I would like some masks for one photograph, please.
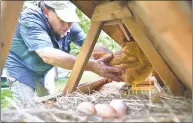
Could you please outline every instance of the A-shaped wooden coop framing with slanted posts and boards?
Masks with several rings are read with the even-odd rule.
[[[91,19],[63,94],[76,89],[88,92],[108,79],[79,85],[101,30],[121,47],[136,41],[155,70],[156,78],[177,96],[192,94],[191,1],[78,1],[72,0]],[[22,1],[1,2],[1,69],[5,62]],[[133,40],[134,39],[134,40]],[[154,83],[155,84],[155,83]],[[150,87],[151,88],[151,87]],[[42,101],[54,96],[42,98]]]

